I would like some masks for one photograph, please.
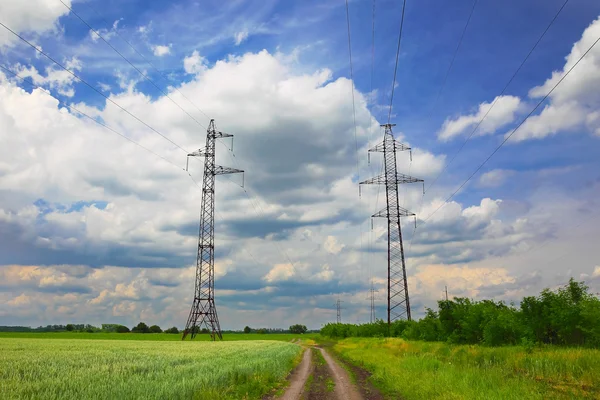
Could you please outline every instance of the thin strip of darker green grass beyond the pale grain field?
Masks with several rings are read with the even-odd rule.
[[[169,333],[87,333],[87,332],[0,332],[2,338],[31,338],[31,339],[99,339],[99,340],[156,340],[156,341],[181,341],[181,334]],[[224,333],[224,341],[237,340],[278,340],[289,342],[293,339],[311,340],[318,337],[318,333],[297,335],[292,333]],[[189,336],[188,336],[189,338]],[[189,339],[186,339],[189,340]],[[198,334],[194,341],[210,341],[210,335]]]

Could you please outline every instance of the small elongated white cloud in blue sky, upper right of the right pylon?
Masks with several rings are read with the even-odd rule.
[[[495,104],[494,104],[495,103]],[[490,111],[490,107],[493,108]],[[450,140],[461,134],[471,133],[479,121],[488,113],[487,117],[479,126],[476,135],[485,135],[496,132],[499,128],[513,122],[521,107],[521,100],[515,96],[499,96],[491,103],[481,103],[477,112],[461,115],[454,119],[446,119],[438,131],[438,139]]]

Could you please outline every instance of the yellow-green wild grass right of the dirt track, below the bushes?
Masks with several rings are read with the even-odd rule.
[[[600,351],[345,339],[334,351],[370,371],[384,393],[411,399],[600,398]]]

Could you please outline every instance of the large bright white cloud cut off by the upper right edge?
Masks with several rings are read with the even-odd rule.
[[[577,41],[561,71],[553,71],[543,85],[529,91],[533,99],[544,97],[577,60],[600,37],[600,17],[590,24]],[[512,141],[541,139],[559,132],[600,133],[600,46],[596,45],[569,73],[549,97],[538,115],[530,117],[511,137]],[[509,133],[507,133],[508,135]]]

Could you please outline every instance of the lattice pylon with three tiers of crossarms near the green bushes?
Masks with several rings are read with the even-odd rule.
[[[407,319],[409,321],[411,319],[400,218],[414,216],[415,214],[400,207],[398,202],[398,184],[423,182],[422,179],[401,174],[396,170],[396,152],[410,151],[411,149],[394,139],[392,127],[395,125],[396,124],[381,125],[385,128],[383,142],[369,149],[369,152],[383,153],[384,173],[375,178],[360,182],[361,185],[385,185],[387,206],[383,210],[373,214],[372,217],[387,218],[388,220],[388,326],[397,319]],[[423,187],[423,190],[425,190],[425,187]]]

